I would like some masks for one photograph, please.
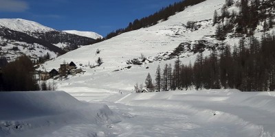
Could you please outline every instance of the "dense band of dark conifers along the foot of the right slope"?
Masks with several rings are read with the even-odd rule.
[[[173,64],[157,67],[155,82],[150,73],[145,80],[149,92],[188,90],[188,88],[236,88],[241,91],[275,90],[275,35],[267,34],[258,40],[250,36],[239,40],[239,45],[223,45],[220,53],[210,55],[200,52],[194,64],[182,64],[177,58]],[[233,49],[231,49],[233,47]],[[142,90],[135,85],[135,91]]]

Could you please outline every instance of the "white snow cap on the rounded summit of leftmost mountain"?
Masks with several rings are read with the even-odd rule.
[[[50,32],[56,31],[50,27],[45,27],[34,21],[28,21],[21,18],[0,18],[0,26],[8,27],[17,32],[24,32],[27,34],[34,32]]]

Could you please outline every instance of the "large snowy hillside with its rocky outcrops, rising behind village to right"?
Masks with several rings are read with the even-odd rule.
[[[234,1],[235,4],[227,8],[230,14],[233,11],[239,12],[239,2]],[[69,86],[63,84],[67,82],[59,82],[62,84],[58,88],[60,90],[69,91],[72,87],[83,87],[91,91],[102,88],[131,91],[135,83],[144,83],[148,73],[154,79],[158,65],[163,68],[166,63],[174,64],[177,55],[183,64],[193,64],[198,52],[203,52],[203,57],[210,55],[212,49],[217,49],[220,53],[226,44],[238,45],[243,37],[245,43],[248,43],[246,34],[235,32],[237,23],[232,25],[232,30],[225,35],[224,40],[217,40],[216,29],[219,25],[213,25],[212,18],[215,10],[221,13],[224,4],[223,0],[207,0],[189,6],[183,12],[170,16],[167,21],[81,47],[46,62],[41,67],[48,71],[58,69],[65,60],[74,61],[86,71],[80,77],[71,77]],[[226,21],[228,19],[225,18],[224,22]],[[195,27],[190,27],[190,24]],[[272,30],[274,27],[269,32]],[[263,22],[255,27],[254,36],[258,39],[263,36]],[[100,66],[96,64],[98,58],[103,60]]]

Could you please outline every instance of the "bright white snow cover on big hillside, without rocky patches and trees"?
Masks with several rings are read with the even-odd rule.
[[[86,73],[70,77],[67,82],[58,82],[58,89],[63,90],[67,89],[68,86],[80,86],[96,89],[104,87],[105,90],[127,90],[131,92],[136,82],[143,83],[148,73],[151,73],[152,76],[155,74],[158,64],[162,67],[166,63],[173,64],[174,60],[155,60],[153,63],[146,62],[146,64],[140,66],[126,64],[129,60],[141,58],[141,54],[150,60],[167,58],[168,55],[164,54],[172,53],[181,42],[195,43],[197,40],[204,39],[213,44],[219,42],[210,37],[214,34],[216,28],[212,26],[211,19],[214,10],[221,8],[224,2],[223,0],[208,0],[190,6],[183,12],[170,16],[168,21],[163,21],[152,27],[120,34],[109,40],[70,51],[41,65],[41,70],[42,68],[47,69],[47,71],[58,69],[64,60],[65,62],[73,61],[78,68],[81,67]],[[200,21],[201,28],[196,31],[186,28],[184,25],[188,21]],[[239,38],[228,38],[228,40],[237,42]],[[96,54],[98,49],[100,53]],[[209,53],[210,51],[206,51],[203,54],[208,55]],[[196,55],[194,53],[183,53],[180,55],[182,57],[181,62],[184,64],[192,63],[195,61]],[[103,64],[90,69],[88,65],[96,65],[95,61],[99,57],[102,58]],[[80,64],[83,64],[83,66],[80,66]],[[127,66],[131,66],[131,69],[125,69]],[[146,67],[149,69],[146,69]],[[152,78],[154,79],[154,77]],[[70,83],[70,85],[63,83]]]

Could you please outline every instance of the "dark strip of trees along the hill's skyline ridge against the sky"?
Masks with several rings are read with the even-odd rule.
[[[162,8],[158,12],[151,14],[150,16],[146,16],[144,18],[135,19],[135,21],[129,23],[129,25],[122,29],[117,29],[114,32],[107,34],[106,39],[113,38],[114,36],[118,36],[124,32],[130,32],[133,30],[140,29],[142,27],[150,27],[152,25],[156,25],[158,21],[166,21],[169,16],[176,14],[177,12],[182,12],[186,7],[190,5],[196,5],[206,0],[185,0],[180,1],[171,5],[168,5],[166,8]]]

